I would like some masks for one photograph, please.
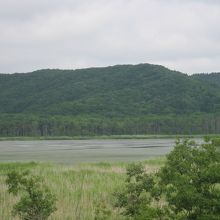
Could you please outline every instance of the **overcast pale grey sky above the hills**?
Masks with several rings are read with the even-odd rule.
[[[220,72],[219,0],[0,0],[0,72],[153,63]]]

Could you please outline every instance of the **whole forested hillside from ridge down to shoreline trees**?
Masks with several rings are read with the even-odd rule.
[[[0,135],[193,133],[195,118],[216,133],[219,75],[151,64],[0,74]],[[215,126],[203,122],[210,117]]]

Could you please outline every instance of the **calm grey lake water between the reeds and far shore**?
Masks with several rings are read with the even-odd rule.
[[[143,160],[169,153],[174,139],[1,141],[0,162],[79,163]]]

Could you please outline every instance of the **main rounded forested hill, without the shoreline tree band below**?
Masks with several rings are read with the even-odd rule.
[[[140,116],[220,111],[220,90],[197,78],[149,64],[1,75],[0,112]]]

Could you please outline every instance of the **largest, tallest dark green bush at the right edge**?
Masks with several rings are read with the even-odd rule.
[[[216,144],[216,139],[201,146],[178,141],[168,156],[160,172],[161,185],[176,214],[187,219],[220,217],[220,154]]]

